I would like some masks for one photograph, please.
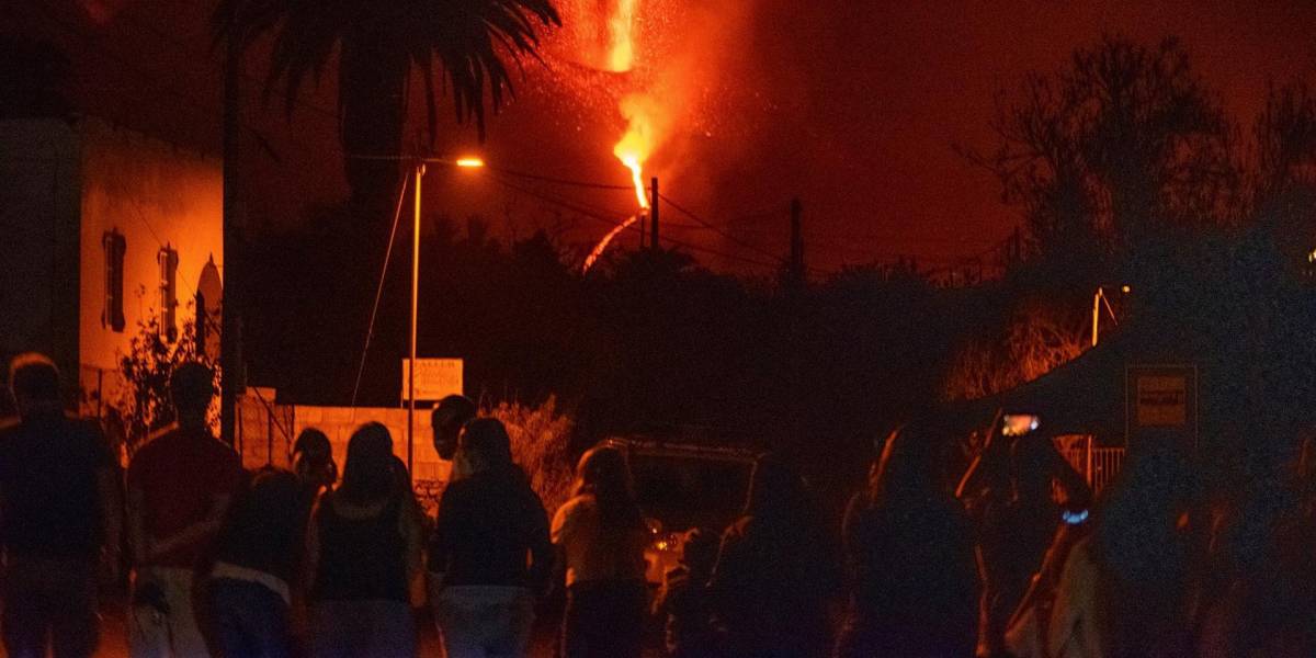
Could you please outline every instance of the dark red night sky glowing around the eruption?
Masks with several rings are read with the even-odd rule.
[[[71,57],[84,109],[179,143],[218,149],[218,58],[205,20],[209,0],[36,0],[7,4],[5,22],[54,39]],[[724,228],[728,241],[671,209],[670,236],[740,259],[700,253],[719,267],[763,271],[749,261],[783,254],[787,203],[805,207],[811,266],[913,254],[938,263],[1004,238],[1017,222],[994,179],[953,143],[990,147],[998,92],[1029,70],[1053,71],[1103,33],[1153,45],[1179,36],[1196,70],[1246,129],[1269,79],[1311,79],[1316,4],[1263,3],[855,3],[849,0],[640,0],[636,68],[603,72],[592,39],[609,0],[562,4],[566,28],[546,37],[546,67],[526,62],[517,100],[478,147],[503,168],[626,184],[612,157],[625,122],[617,100],[645,92],[663,114],[646,176]],[[292,124],[282,97],[255,88],[258,47],[247,61],[245,112],[249,212],[261,225],[295,225],[311,201],[345,196],[336,89],[326,71]],[[413,86],[420,118],[420,87]],[[440,153],[476,147],[441,101]],[[408,128],[408,142],[422,126]],[[278,159],[274,159],[274,155]],[[462,217],[480,213],[503,234],[553,229],[567,242],[608,230],[600,218],[555,217],[536,196],[563,195],[604,217],[633,209],[626,191],[592,191],[480,174],[440,172],[426,203]],[[509,222],[507,218],[513,217]],[[633,242],[633,240],[630,241]],[[749,245],[749,246],[746,246]]]

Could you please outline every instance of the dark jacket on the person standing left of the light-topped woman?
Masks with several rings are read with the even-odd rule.
[[[540,590],[549,580],[553,555],[544,503],[520,468],[478,472],[443,491],[429,570],[443,574],[445,587]]]

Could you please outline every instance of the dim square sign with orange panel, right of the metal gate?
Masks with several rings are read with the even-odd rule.
[[[1128,438],[1174,437],[1198,443],[1198,367],[1129,365],[1124,374]]]

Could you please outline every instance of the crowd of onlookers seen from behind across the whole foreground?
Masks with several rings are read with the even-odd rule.
[[[341,476],[315,429],[291,471],[245,471],[209,429],[199,363],[175,368],[176,424],[126,472],[95,422],[66,415],[50,359],[17,357],[9,384],[0,630],[16,658],[91,655],[97,586],[121,565],[133,657],[412,657],[425,600],[446,655],[521,657],[555,588],[566,658],[1316,651],[1312,450],[1212,496],[1173,443],[1133,445],[1096,499],[1041,437],[988,432],[955,478],[954,430],[929,415],[880,443],[840,533],[790,462],[762,458],[742,517],[686,533],[654,592],[624,453],[586,451],[550,515],[507,428],[466,397],[432,415],[453,470],[429,519],[376,422],[351,434]]]

